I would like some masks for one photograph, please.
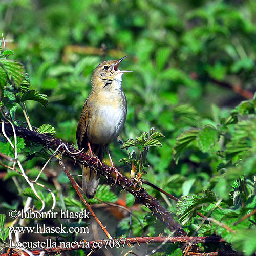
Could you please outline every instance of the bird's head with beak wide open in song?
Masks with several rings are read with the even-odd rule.
[[[92,86],[93,87],[106,87],[113,82],[121,86],[123,73],[132,72],[129,70],[119,70],[118,66],[123,59],[106,60],[101,62],[93,71]]]

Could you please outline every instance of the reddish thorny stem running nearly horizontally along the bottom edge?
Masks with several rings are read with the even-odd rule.
[[[113,243],[110,241],[113,241]],[[70,250],[77,250],[80,248],[85,248],[84,247],[84,243],[87,243],[87,249],[92,249],[92,250],[98,250],[99,246],[97,247],[97,245],[101,245],[102,248],[108,247],[108,245],[113,245],[114,243],[118,243],[120,245],[131,245],[131,244],[143,244],[143,243],[163,243],[164,241],[166,241],[167,243],[190,243],[191,245],[194,244],[199,244],[199,243],[217,243],[217,242],[224,242],[224,240],[219,237],[219,236],[211,236],[211,237],[137,237],[137,238],[119,238],[119,239],[104,239],[104,240],[97,240],[97,241],[90,241],[90,242],[86,242],[81,241],[77,242],[76,246],[72,246],[72,248],[63,248],[60,246],[57,246],[55,248],[45,248],[44,250],[34,250],[31,251],[31,253],[33,253],[33,255],[40,255],[41,251],[46,251],[48,255],[50,254],[60,254],[63,251],[70,251]],[[47,241],[46,241],[47,243]],[[50,242],[49,242],[50,244]],[[26,252],[23,252],[25,256],[29,256]],[[188,252],[189,254],[189,252]],[[195,254],[197,255],[197,254]],[[200,253],[198,253],[198,255],[201,255]],[[203,254],[204,255],[204,254]],[[221,254],[215,254],[215,255],[221,255]],[[223,254],[224,255],[224,254]],[[227,255],[227,254],[226,254]],[[235,255],[235,254],[233,254]],[[0,256],[8,256],[7,253],[3,253],[0,254]],[[11,256],[19,256],[18,253],[13,253],[11,254]]]

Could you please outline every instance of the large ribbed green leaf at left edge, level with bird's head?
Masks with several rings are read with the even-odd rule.
[[[0,66],[6,71],[9,79],[13,80],[16,86],[19,86],[25,74],[23,65],[15,60],[0,59]]]

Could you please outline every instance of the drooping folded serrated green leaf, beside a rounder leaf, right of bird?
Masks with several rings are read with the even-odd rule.
[[[173,148],[173,157],[176,164],[179,161],[182,151],[188,146],[193,140],[197,138],[200,129],[193,128],[179,135],[176,139],[175,146]]]

